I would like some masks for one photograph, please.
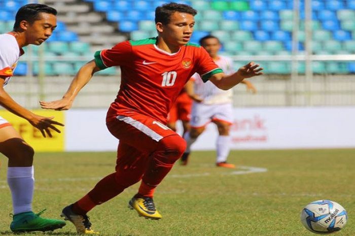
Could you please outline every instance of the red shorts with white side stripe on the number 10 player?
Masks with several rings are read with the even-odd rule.
[[[149,155],[157,149],[161,139],[176,135],[159,121],[137,113],[118,115],[107,120],[109,131],[120,140],[116,170],[146,166]]]

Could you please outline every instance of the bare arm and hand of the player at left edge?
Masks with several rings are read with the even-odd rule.
[[[43,137],[52,137],[51,129],[60,133],[60,130],[56,128],[54,125],[64,126],[62,123],[54,121],[54,117],[44,117],[39,116],[31,111],[28,111],[24,107],[20,106],[15,102],[14,99],[4,90],[5,78],[0,77],[0,105],[6,108],[9,112],[26,119],[31,125],[38,128]]]

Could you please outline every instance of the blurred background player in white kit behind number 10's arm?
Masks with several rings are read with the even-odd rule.
[[[218,55],[221,44],[217,37],[203,37],[200,39],[200,45],[206,49],[216,64],[220,66],[227,75],[233,73],[232,59]],[[181,158],[181,163],[183,165],[187,164],[191,145],[204,131],[205,126],[209,122],[214,122],[219,131],[219,136],[217,138],[216,165],[220,167],[235,168],[234,164],[227,163],[227,157],[230,151],[229,129],[233,123],[233,92],[231,89],[219,89],[209,81],[203,83],[198,74],[193,75],[192,79],[193,82],[190,81],[186,87],[187,93],[194,99],[191,111],[191,129],[184,135],[184,139],[187,142],[187,148]],[[246,85],[247,90],[256,92],[256,89],[251,82],[243,80],[241,83]]]

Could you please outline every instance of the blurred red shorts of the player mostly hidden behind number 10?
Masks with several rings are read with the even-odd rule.
[[[175,123],[177,120],[190,121],[192,99],[186,92],[181,93],[171,107],[168,114],[168,123]]]

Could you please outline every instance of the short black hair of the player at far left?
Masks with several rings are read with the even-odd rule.
[[[57,15],[57,10],[44,4],[27,4],[22,6],[16,13],[14,30],[19,29],[20,22],[23,20],[30,24],[39,20],[40,13],[42,12]]]

